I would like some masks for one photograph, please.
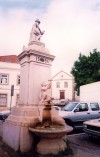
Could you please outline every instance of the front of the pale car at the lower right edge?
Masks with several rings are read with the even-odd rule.
[[[89,136],[100,138],[100,118],[86,121],[83,124],[85,133]]]

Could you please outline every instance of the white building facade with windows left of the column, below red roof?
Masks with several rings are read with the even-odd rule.
[[[0,107],[15,106],[19,100],[20,65],[0,62]],[[11,86],[14,85],[14,96],[11,100]]]

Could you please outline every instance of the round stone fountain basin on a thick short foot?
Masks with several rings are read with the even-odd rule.
[[[72,130],[73,128],[71,126],[63,126],[59,124],[54,124],[53,126],[49,127],[44,127],[42,125],[29,127],[30,132],[40,137],[36,150],[41,155],[56,155],[61,151],[65,151],[67,144],[63,137]]]

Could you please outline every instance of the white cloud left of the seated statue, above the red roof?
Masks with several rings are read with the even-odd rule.
[[[0,17],[0,52],[19,54],[23,45],[28,44],[33,21],[40,15],[37,11],[27,12],[24,9],[12,9],[6,15],[0,14],[3,15]]]

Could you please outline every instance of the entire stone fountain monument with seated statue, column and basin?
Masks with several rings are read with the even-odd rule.
[[[24,46],[22,53],[18,55],[20,102],[18,106],[12,108],[10,116],[3,124],[4,143],[22,153],[32,149],[36,135],[41,139],[37,145],[40,154],[43,154],[43,143],[46,145],[46,150],[50,149],[47,151],[49,153],[53,151],[53,147],[57,147],[54,153],[58,151],[56,145],[63,150],[66,146],[62,137],[72,129],[66,126],[64,120],[55,116],[56,111],[51,110],[52,103],[49,96],[51,85],[50,82],[47,84],[45,82],[51,78],[51,63],[55,57],[40,41],[44,31],[41,31],[39,24],[40,20],[37,19],[32,27],[28,46]],[[50,145],[48,148],[47,143]]]

